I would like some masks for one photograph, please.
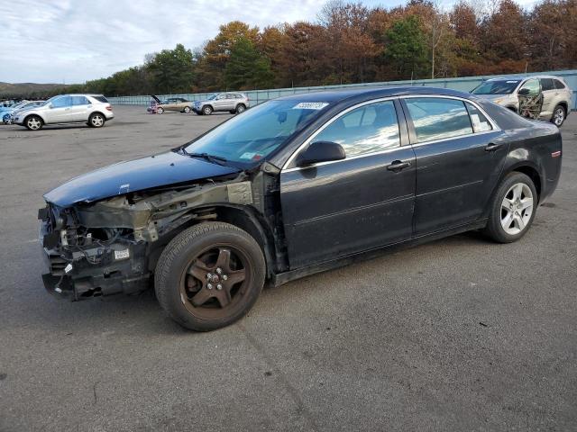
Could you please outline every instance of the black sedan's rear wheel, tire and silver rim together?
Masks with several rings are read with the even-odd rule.
[[[523,173],[509,173],[490,202],[485,234],[498,243],[522,238],[535,219],[537,201],[533,180]]]

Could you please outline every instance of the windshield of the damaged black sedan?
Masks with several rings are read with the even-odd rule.
[[[279,148],[328,103],[295,100],[261,103],[191,141],[187,153],[224,157],[231,165],[252,166]]]

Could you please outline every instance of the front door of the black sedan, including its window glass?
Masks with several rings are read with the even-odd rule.
[[[307,141],[339,143],[345,159],[298,167],[291,157],[280,175],[291,269],[411,237],[415,154],[399,127],[392,100],[364,103]]]

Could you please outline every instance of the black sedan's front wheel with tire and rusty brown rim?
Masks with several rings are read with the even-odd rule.
[[[261,294],[266,265],[246,231],[205,222],[162,251],[154,275],[160,306],[181,326],[209,331],[240,320]]]

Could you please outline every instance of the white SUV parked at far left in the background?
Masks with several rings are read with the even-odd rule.
[[[102,94],[60,94],[41,106],[16,112],[12,122],[29,130],[40,130],[45,124],[79,122],[101,128],[113,118],[112,106]]]

